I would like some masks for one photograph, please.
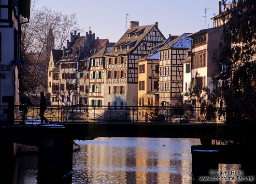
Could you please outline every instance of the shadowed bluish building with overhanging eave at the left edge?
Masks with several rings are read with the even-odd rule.
[[[0,1],[0,122],[14,123],[19,105],[20,15],[29,20],[30,1]],[[24,62],[23,62],[24,64]],[[7,87],[8,86],[8,87]]]

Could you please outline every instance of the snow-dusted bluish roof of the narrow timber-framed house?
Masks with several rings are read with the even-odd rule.
[[[176,37],[170,43],[166,44],[165,46],[161,47],[158,50],[173,49],[173,48],[190,48],[192,39],[187,37],[190,34],[191,33],[184,33],[181,36]]]

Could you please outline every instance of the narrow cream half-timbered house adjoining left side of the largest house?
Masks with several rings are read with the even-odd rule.
[[[108,39],[92,40],[84,58],[84,64],[78,69],[77,97],[80,105],[102,105],[104,97],[105,58],[103,54],[109,51]],[[89,99],[89,97],[91,98]],[[93,100],[93,101],[92,101]],[[91,103],[93,102],[93,103]]]

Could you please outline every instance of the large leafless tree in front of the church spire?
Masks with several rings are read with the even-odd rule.
[[[47,67],[53,48],[61,49],[71,31],[78,28],[76,15],[62,14],[47,7],[35,9],[31,3],[30,20],[21,27],[21,92],[47,87]]]

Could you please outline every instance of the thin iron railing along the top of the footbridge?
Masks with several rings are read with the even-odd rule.
[[[40,124],[39,108],[14,106],[14,122]],[[0,107],[1,120],[8,111]],[[225,108],[189,106],[47,106],[44,116],[51,123],[226,123]]]

